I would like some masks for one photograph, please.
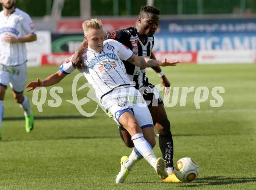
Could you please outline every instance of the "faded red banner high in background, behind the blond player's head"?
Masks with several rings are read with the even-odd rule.
[[[56,30],[58,33],[83,33],[84,20],[59,20]],[[104,30],[113,31],[134,26],[136,19],[102,19]]]

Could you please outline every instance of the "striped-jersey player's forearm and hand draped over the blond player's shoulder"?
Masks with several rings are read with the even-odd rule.
[[[76,49],[76,51],[74,52],[74,55],[72,56],[72,64],[74,68],[77,69],[81,69],[81,67],[83,66],[83,52],[84,49],[87,48],[87,42],[86,40],[84,40],[83,42],[81,42],[81,44],[79,45],[79,47]]]

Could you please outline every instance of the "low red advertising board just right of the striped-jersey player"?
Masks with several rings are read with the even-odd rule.
[[[181,63],[196,63],[197,52],[154,52],[155,57],[158,60],[169,61],[179,60]]]

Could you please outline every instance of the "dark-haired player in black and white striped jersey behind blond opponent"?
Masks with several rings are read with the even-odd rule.
[[[140,13],[136,22],[135,27],[129,27],[118,31],[108,32],[105,34],[106,38],[117,40],[120,43],[126,45],[134,54],[143,58],[155,59],[154,53],[152,53],[152,47],[154,46],[154,33],[157,31],[159,23],[160,11],[152,6],[143,6],[140,9]],[[81,50],[86,46],[84,41],[77,49],[75,56],[73,56],[73,63],[79,67]],[[127,63],[124,60],[124,63]],[[166,170],[168,171],[169,177],[163,180],[164,182],[180,182],[175,173],[173,172],[173,140],[172,133],[170,131],[170,121],[168,120],[165,108],[163,106],[163,100],[158,90],[154,85],[148,82],[148,78],[145,73],[145,67],[139,67],[134,64],[125,64],[127,74],[131,81],[136,84],[136,89],[139,89],[145,101],[147,102],[148,108],[154,126],[158,130],[159,134],[159,146],[162,152],[162,157],[166,162]],[[161,82],[165,87],[165,93],[168,92],[170,83],[166,78],[165,74],[160,67],[152,67],[161,78]],[[129,132],[122,126],[119,126],[120,135],[125,142],[126,146],[133,147],[133,142]],[[128,162],[127,167],[129,170],[134,163],[137,162],[140,155],[136,155],[134,152],[133,157],[123,157],[124,162]],[[129,161],[132,160],[131,162]]]

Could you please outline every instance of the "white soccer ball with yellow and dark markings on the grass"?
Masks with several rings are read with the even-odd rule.
[[[193,181],[199,174],[199,166],[190,157],[183,157],[175,164],[176,177],[183,182]]]

